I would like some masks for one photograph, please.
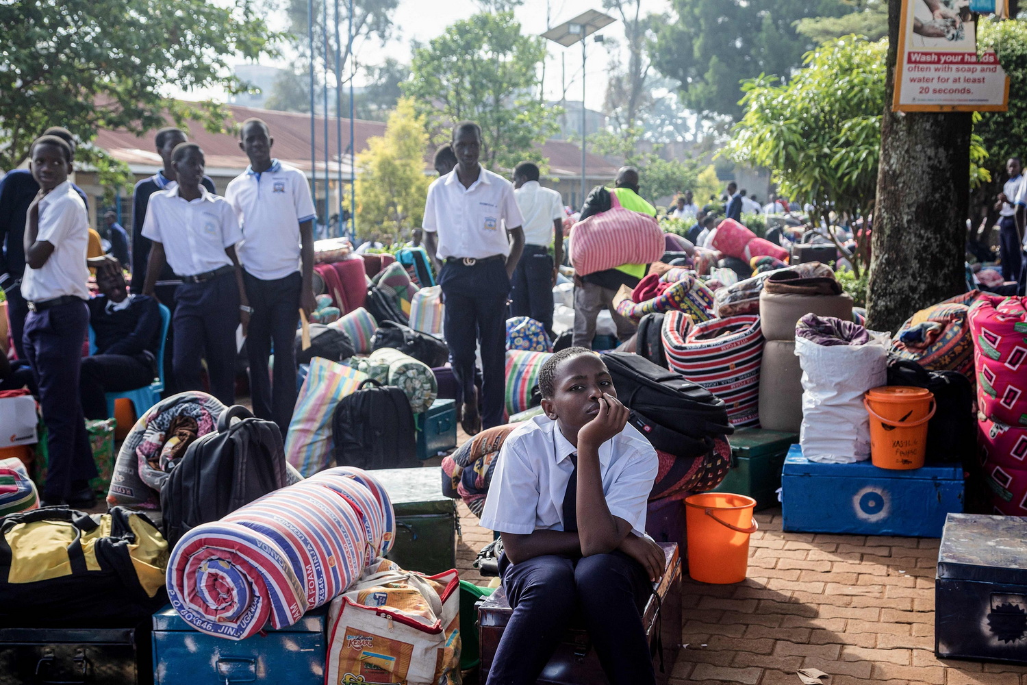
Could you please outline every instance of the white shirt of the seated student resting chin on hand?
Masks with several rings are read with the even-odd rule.
[[[576,448],[556,421],[536,416],[514,429],[489,486],[482,526],[501,533],[563,530],[564,495]],[[599,448],[603,494],[610,513],[645,535],[646,501],[656,479],[656,451],[631,425]]]

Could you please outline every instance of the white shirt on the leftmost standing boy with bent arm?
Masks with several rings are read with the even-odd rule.
[[[89,269],[85,256],[89,245],[89,220],[85,203],[65,181],[39,200],[39,233],[36,240],[53,245],[49,259],[38,269],[26,266],[22,297],[44,302],[74,295],[89,299]]]

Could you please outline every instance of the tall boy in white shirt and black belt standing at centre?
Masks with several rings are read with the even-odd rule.
[[[428,254],[444,262],[439,275],[446,302],[443,331],[453,376],[463,391],[461,424],[468,435],[503,422],[506,300],[524,249],[514,186],[478,163],[481,150],[481,126],[461,121],[453,128],[457,165],[428,187],[422,222]],[[479,341],[481,416],[474,391]]]

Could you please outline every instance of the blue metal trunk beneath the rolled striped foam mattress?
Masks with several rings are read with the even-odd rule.
[[[152,682],[322,685],[327,617],[325,605],[289,627],[233,641],[193,630],[168,604],[153,614]]]

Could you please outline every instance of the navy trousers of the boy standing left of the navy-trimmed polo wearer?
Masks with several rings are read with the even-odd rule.
[[[206,359],[211,394],[235,404],[235,329],[239,326],[239,289],[234,273],[201,283],[182,283],[176,292],[175,377],[179,391],[202,390],[200,358]]]

